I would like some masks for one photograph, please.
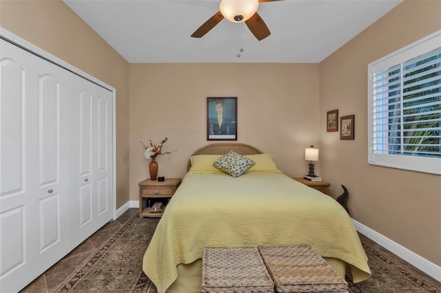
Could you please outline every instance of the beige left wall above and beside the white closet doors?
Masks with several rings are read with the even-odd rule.
[[[129,199],[129,64],[60,0],[0,1],[0,26],[116,89],[116,207]]]

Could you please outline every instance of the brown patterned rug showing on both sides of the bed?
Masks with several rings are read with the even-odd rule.
[[[156,293],[156,287],[143,273],[142,259],[157,224],[158,219],[140,219],[134,215],[54,292]],[[349,292],[441,293],[439,283],[422,279],[365,242],[369,241],[362,244],[369,258],[372,276],[356,284],[347,276]]]

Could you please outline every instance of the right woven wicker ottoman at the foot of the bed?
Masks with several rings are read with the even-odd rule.
[[[347,282],[311,246],[259,246],[276,292],[349,292]]]

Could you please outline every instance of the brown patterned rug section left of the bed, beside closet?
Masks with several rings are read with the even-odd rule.
[[[142,270],[142,260],[157,224],[157,218],[134,215],[54,292],[156,293]]]

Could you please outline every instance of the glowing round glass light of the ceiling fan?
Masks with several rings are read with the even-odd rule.
[[[258,7],[258,0],[222,0],[219,4],[223,17],[234,23],[247,21],[256,13]]]

